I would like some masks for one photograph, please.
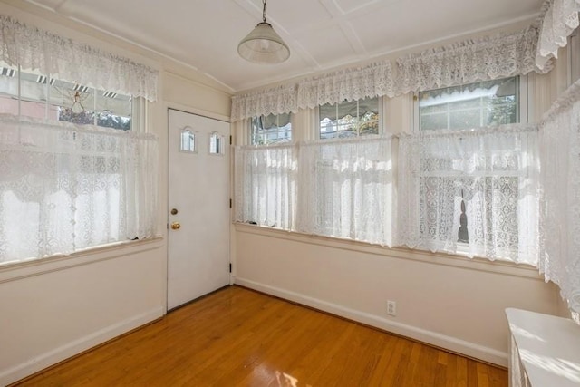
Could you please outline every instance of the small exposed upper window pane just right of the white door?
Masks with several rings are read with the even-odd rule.
[[[252,119],[252,145],[268,145],[292,140],[292,114],[261,115]]]

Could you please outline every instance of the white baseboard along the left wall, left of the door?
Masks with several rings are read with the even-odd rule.
[[[163,314],[165,314],[165,307],[157,307],[144,314],[132,316],[131,318],[107,326],[93,334],[88,334],[78,340],[66,343],[47,353],[41,353],[24,363],[17,364],[5,370],[0,370],[0,386],[17,382],[35,372],[42,371],[53,364],[73,357],[75,354],[82,353],[96,345],[105,343],[121,334],[125,334],[138,328],[141,325],[150,323],[151,321],[162,317]]]

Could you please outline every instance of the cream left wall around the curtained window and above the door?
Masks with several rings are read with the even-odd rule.
[[[159,136],[160,237],[0,266],[0,385],[5,385],[166,313],[167,108],[227,118],[230,95],[190,68],[21,0],[0,1],[0,14],[160,69],[160,98],[149,103],[148,120],[148,130]]]

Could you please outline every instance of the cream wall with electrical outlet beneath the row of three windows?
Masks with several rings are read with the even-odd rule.
[[[528,266],[236,230],[236,284],[490,363],[507,366],[507,307],[557,313],[555,286]]]

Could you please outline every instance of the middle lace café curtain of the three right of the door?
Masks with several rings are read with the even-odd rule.
[[[300,147],[297,229],[391,246],[391,138]]]

